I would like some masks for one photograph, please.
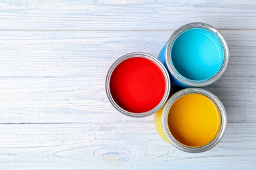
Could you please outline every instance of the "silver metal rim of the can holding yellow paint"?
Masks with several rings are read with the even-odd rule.
[[[188,93],[200,93],[200,94],[206,95],[213,102],[215,102],[215,104],[217,105],[217,107],[219,108],[219,111],[221,113],[221,128],[219,130],[218,135],[215,137],[215,139],[213,139],[213,141],[211,141],[208,144],[205,144],[204,146],[200,146],[200,147],[185,146],[185,145],[179,143],[179,141],[177,141],[175,139],[175,137],[173,137],[173,135],[171,135],[171,132],[169,131],[169,127],[167,124],[169,109],[171,108],[171,105],[173,105],[173,103],[177,99],[179,99],[179,97],[181,97],[182,95],[186,95]],[[216,95],[214,95],[213,93],[211,93],[207,90],[204,90],[202,88],[185,88],[185,89],[175,93],[174,95],[172,95],[170,97],[170,99],[167,101],[167,103],[163,109],[163,116],[162,116],[161,122],[162,122],[162,126],[163,126],[163,131],[170,143],[172,143],[175,147],[177,147],[180,150],[183,150],[185,152],[199,153],[199,152],[204,152],[206,150],[209,150],[210,148],[213,148],[213,146],[215,146],[217,143],[219,143],[219,141],[221,141],[221,139],[223,138],[224,132],[226,130],[227,117],[226,117],[226,110],[224,109],[223,103],[221,103],[221,101],[218,99],[218,97]]]

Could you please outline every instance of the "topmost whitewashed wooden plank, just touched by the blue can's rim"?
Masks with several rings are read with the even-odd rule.
[[[0,29],[170,30],[190,22],[255,29],[255,11],[253,0],[2,1]]]

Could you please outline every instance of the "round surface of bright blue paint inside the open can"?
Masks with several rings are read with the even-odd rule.
[[[186,80],[202,82],[216,75],[224,61],[224,49],[215,33],[203,28],[182,32],[171,46],[171,63]]]

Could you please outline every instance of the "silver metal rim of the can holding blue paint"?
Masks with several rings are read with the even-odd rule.
[[[219,70],[219,72],[216,75],[214,75],[213,77],[211,77],[207,80],[204,80],[204,81],[194,81],[194,80],[189,80],[189,79],[183,78],[182,76],[180,76],[177,73],[177,71],[171,64],[170,51],[171,51],[171,46],[172,46],[173,42],[183,31],[186,31],[186,30],[192,29],[192,28],[203,28],[203,29],[207,29],[207,30],[211,31],[212,33],[215,33],[219,37],[219,39],[221,39],[221,43],[223,44],[224,61],[223,61],[223,65],[222,65],[221,69]],[[169,38],[169,40],[167,41],[166,48],[165,48],[165,61],[167,63],[167,67],[168,67],[169,71],[171,72],[171,75],[173,75],[177,80],[179,80],[179,82],[182,82],[182,84],[186,84],[187,86],[190,86],[190,87],[207,86],[207,85],[212,84],[213,82],[217,81],[219,78],[221,78],[221,76],[226,71],[226,69],[228,67],[229,59],[230,59],[230,52],[229,52],[229,48],[228,48],[228,42],[224,38],[224,35],[221,33],[221,31],[219,31],[217,28],[213,27],[212,25],[205,24],[202,22],[192,22],[190,24],[186,24],[186,25],[183,25],[182,27],[179,27],[179,29],[177,29]]]

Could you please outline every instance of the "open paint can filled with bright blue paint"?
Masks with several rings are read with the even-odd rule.
[[[167,67],[171,87],[202,87],[217,81],[228,67],[228,43],[215,27],[204,23],[177,29],[158,59]]]

